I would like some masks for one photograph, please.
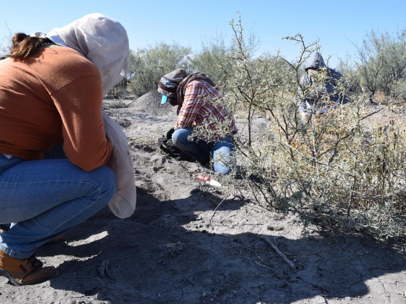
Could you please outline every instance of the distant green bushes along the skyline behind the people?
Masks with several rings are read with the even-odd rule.
[[[301,45],[302,48],[306,46],[300,34],[295,37],[286,37],[286,39],[292,41],[292,46],[294,43]],[[248,56],[247,59],[257,64],[265,60],[282,61],[283,59],[283,54],[263,54],[255,57],[257,41],[252,34],[248,39],[244,37],[240,43],[244,43],[240,47],[245,56]],[[293,63],[299,65],[300,72],[302,71],[300,64],[311,51],[318,48],[318,42],[311,42],[310,46],[313,48],[307,48],[303,54],[298,53],[298,61]],[[191,53],[189,48],[176,43],[172,45],[158,43],[149,48],[132,50],[130,71],[126,77],[128,89],[137,95],[155,91],[160,77],[177,67],[185,68],[189,72],[202,71],[209,74],[217,83],[225,83],[235,59],[238,58],[232,57],[231,54],[242,55],[238,47],[239,42],[235,39],[230,45],[226,45],[222,37],[214,37],[211,42],[203,43],[197,53]],[[374,102],[378,96],[378,99],[384,98],[378,101],[404,100],[406,98],[406,29],[394,34],[371,30],[364,37],[362,44],[356,48],[357,53],[353,54],[354,60],[341,58],[336,66],[346,75],[350,91],[355,94],[366,93],[371,102]]]

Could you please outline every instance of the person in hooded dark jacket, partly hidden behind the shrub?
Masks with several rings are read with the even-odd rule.
[[[323,113],[347,103],[344,94],[343,74],[327,67],[319,52],[313,53],[304,67],[298,87],[298,109],[300,116],[306,118],[310,113]]]

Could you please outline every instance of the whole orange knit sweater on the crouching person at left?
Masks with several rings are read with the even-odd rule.
[[[0,153],[39,160],[63,143],[67,158],[90,171],[111,154],[96,67],[73,49],[50,46],[23,60],[0,61]]]

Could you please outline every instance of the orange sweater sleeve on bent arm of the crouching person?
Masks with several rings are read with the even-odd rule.
[[[51,94],[62,119],[63,150],[66,157],[85,171],[109,160],[111,145],[101,118],[101,79],[86,75]]]

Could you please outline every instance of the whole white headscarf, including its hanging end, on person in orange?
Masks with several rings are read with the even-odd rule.
[[[107,16],[97,13],[86,15],[71,24],[52,29],[46,36],[89,59],[101,74],[105,94],[128,72],[127,32],[119,22]],[[102,117],[106,137],[113,148],[109,163],[116,174],[116,195],[109,202],[109,207],[116,216],[125,218],[132,215],[137,202],[132,157],[121,127],[105,111],[102,111]]]

